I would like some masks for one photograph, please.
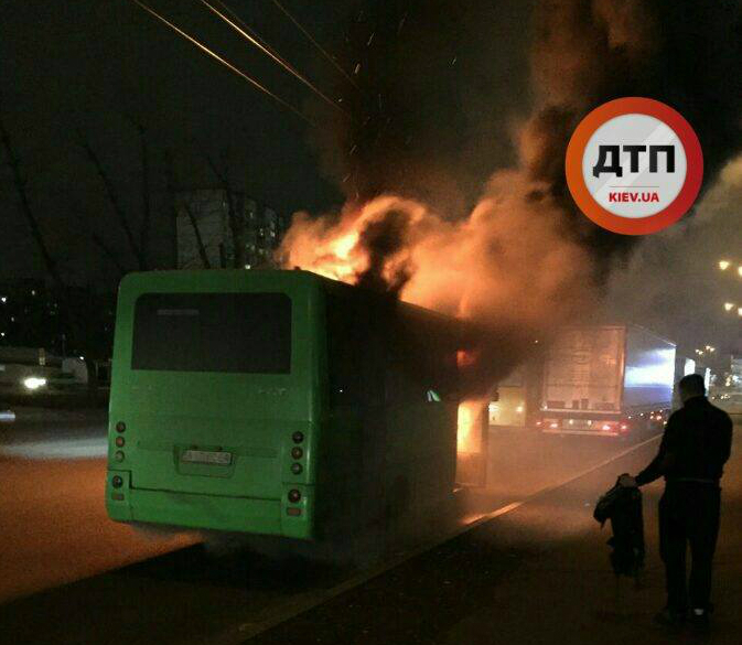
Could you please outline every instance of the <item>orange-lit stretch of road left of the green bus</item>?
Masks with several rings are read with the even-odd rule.
[[[105,411],[15,409],[0,423],[0,602],[193,544],[109,522]]]

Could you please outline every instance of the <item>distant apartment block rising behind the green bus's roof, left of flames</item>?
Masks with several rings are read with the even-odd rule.
[[[221,189],[181,191],[176,196],[176,257],[181,269],[233,267],[235,236],[229,222],[229,197],[241,227],[246,268],[271,266],[289,227],[289,218],[244,193]]]

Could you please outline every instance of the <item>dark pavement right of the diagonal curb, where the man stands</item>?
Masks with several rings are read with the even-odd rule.
[[[561,486],[537,494],[416,555],[364,584],[343,590],[246,643],[386,645],[627,643],[735,645],[742,633],[742,448],[735,431],[722,492],[711,630],[670,631],[653,621],[664,606],[657,553],[663,483],[644,488],[647,563],[641,583],[613,577],[592,502],[617,471],[635,473],[657,442],[639,445]],[[557,454],[555,452],[555,454]]]

